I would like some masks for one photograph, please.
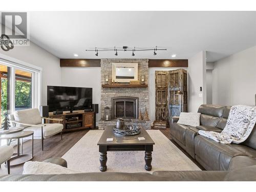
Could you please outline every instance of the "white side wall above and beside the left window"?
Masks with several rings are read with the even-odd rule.
[[[9,51],[0,49],[0,53],[42,68],[41,104],[46,105],[47,86],[60,86],[59,58],[33,44],[33,42],[30,42],[30,46],[14,47]]]

